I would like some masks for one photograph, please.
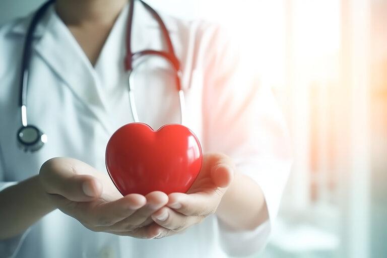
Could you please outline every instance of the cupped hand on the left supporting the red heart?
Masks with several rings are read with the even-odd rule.
[[[122,197],[106,173],[71,158],[46,161],[40,168],[39,180],[54,208],[90,230],[137,238],[159,234],[157,228],[146,225],[153,223],[150,216],[167,204],[168,197],[163,192]]]

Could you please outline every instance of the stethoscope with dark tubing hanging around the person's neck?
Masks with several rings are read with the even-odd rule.
[[[132,113],[133,119],[135,122],[139,122],[139,116],[137,113],[135,96],[133,92],[134,78],[135,78],[135,71],[136,71],[132,66],[133,61],[145,55],[156,55],[167,60],[170,63],[173,70],[175,71],[175,80],[177,85],[177,91],[179,93],[180,121],[181,123],[183,123],[185,104],[184,104],[184,92],[181,87],[180,62],[175,55],[171,38],[169,37],[167,28],[165,27],[165,24],[162,21],[159,14],[152,7],[150,7],[142,0],[139,0],[139,1],[157,20],[161,28],[161,31],[163,33],[163,37],[166,40],[168,51],[157,51],[157,50],[146,49],[135,53],[132,52],[131,37],[132,37],[132,23],[133,23],[135,1],[134,0],[130,1],[129,17],[127,20],[126,56],[124,59],[124,67],[125,67],[125,71],[129,73],[128,93],[129,93],[129,100],[130,100],[131,113]],[[20,82],[20,100],[19,100],[23,125],[18,130],[17,140],[19,143],[19,147],[26,152],[37,151],[40,148],[42,148],[43,145],[47,142],[47,135],[45,135],[37,126],[27,123],[27,86],[28,86],[28,77],[29,77],[29,64],[31,60],[32,36],[37,23],[39,22],[39,20],[47,10],[47,8],[54,2],[55,0],[48,1],[42,7],[40,7],[39,10],[36,12],[28,28],[25,43],[24,43],[22,69],[21,69],[21,82]]]

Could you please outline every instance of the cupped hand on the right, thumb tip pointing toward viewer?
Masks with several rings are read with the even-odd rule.
[[[202,169],[188,192],[171,193],[168,204],[152,214],[157,225],[148,227],[159,232],[156,238],[162,238],[200,223],[215,213],[233,176],[230,158],[216,153],[204,155]]]

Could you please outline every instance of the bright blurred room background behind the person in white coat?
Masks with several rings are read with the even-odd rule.
[[[0,24],[41,0],[2,0]],[[294,166],[251,257],[387,257],[387,1],[149,0],[223,23],[289,124]]]

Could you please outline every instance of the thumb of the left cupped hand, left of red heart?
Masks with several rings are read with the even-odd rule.
[[[76,174],[72,164],[66,162],[46,162],[40,169],[39,178],[48,193],[75,202],[88,202],[102,193],[99,180],[91,175]]]

